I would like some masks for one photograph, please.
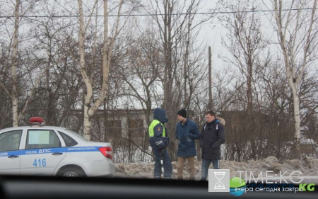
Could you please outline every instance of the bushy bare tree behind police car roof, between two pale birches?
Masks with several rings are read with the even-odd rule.
[[[76,30],[75,24],[70,18],[53,17],[58,15],[59,5],[56,1],[50,3],[52,2],[45,1],[45,4],[31,11],[34,15],[47,14],[47,18],[27,18],[31,27],[27,37],[30,38],[32,45],[26,53],[28,59],[35,60],[37,65],[45,66],[43,67],[45,79],[41,80],[35,93],[38,95],[35,101],[39,110],[33,109],[33,113],[41,115],[47,125],[61,125],[65,113],[69,112],[69,108],[74,103],[76,98],[74,96],[78,95],[79,89],[75,91],[72,86],[77,87],[81,81],[72,79],[73,75],[79,74],[78,70],[73,72],[72,63],[76,62],[78,57],[76,41],[72,38],[72,32]],[[74,57],[75,59],[72,59]],[[64,101],[64,98],[68,100]],[[63,106],[65,111],[58,106],[61,103],[66,103]]]

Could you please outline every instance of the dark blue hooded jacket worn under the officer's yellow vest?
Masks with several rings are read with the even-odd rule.
[[[155,108],[155,110],[153,112],[153,121],[151,122],[151,125],[152,125],[152,123],[155,123],[155,122],[158,123],[158,121],[160,123],[158,123],[157,125],[155,125],[153,127],[154,135],[153,135],[153,137],[150,137],[150,139],[149,139],[151,147],[157,147],[159,149],[163,149],[169,145],[169,138],[167,136],[167,129],[164,126],[165,123],[167,123],[167,121],[168,121],[168,119],[165,117],[165,115],[166,115],[165,109]],[[157,120],[157,121],[155,121],[155,120]],[[163,130],[165,130],[165,136],[163,136]],[[160,144],[160,145],[155,144],[156,142],[160,142],[160,141],[163,141],[163,144]]]

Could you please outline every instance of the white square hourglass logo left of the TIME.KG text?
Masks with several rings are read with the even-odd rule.
[[[230,169],[208,169],[208,192],[230,192]]]

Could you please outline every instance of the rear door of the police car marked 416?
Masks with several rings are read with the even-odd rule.
[[[20,174],[51,176],[66,155],[66,147],[54,130],[28,129]]]

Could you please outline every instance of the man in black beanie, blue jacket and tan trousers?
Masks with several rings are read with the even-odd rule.
[[[196,142],[199,139],[199,128],[192,120],[187,119],[187,111],[182,109],[177,113],[177,129],[175,132],[178,145],[178,166],[177,176],[178,179],[183,178],[184,162],[188,160],[189,164],[189,179],[194,180],[194,157],[196,156]]]

